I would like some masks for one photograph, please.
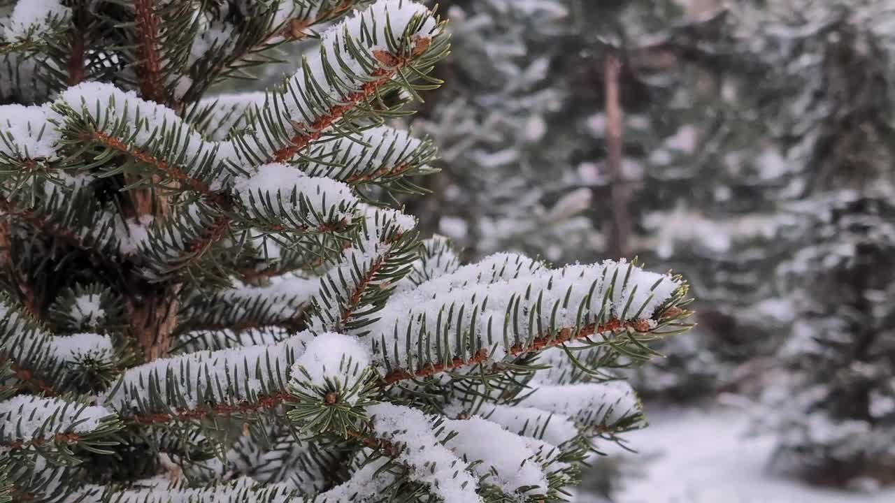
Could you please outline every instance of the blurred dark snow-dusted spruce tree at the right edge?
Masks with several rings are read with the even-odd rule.
[[[748,7],[748,5],[746,5]],[[808,482],[895,482],[892,2],[766,2],[740,41],[793,180],[780,283],[795,310],[765,393],[771,466]],[[760,34],[760,36],[757,36]]]

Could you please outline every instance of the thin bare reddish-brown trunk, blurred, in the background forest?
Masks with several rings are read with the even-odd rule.
[[[618,78],[621,61],[617,55],[609,54],[603,66],[604,89],[606,90],[606,149],[609,167],[610,199],[612,201],[612,226],[609,234],[609,255],[619,259],[627,257],[631,242],[631,215],[628,209],[630,189],[622,172],[624,139],[622,136],[621,92]]]

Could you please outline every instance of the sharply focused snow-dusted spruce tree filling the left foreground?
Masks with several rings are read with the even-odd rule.
[[[462,265],[385,202],[434,171],[385,124],[439,83],[423,4],[0,24],[0,499],[561,500],[644,424],[613,371],[688,328],[680,277]],[[285,43],[282,86],[207,92]]]

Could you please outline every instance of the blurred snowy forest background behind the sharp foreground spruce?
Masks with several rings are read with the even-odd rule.
[[[435,0],[423,234],[465,260],[637,256],[697,326],[583,502],[890,501],[895,2]],[[280,78],[267,69],[246,89]]]

